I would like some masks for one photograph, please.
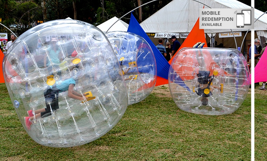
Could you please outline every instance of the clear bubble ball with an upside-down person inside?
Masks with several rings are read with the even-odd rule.
[[[236,49],[183,48],[172,61],[168,79],[181,110],[205,115],[235,112],[250,85],[246,59]]]

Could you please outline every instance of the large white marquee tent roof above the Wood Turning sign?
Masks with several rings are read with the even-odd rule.
[[[146,33],[189,33],[199,17],[199,8],[203,8],[204,4],[204,8],[251,8],[236,0],[173,0],[161,10],[143,21],[140,26]],[[254,21],[262,14],[263,12],[254,9]],[[255,31],[267,30],[267,14],[261,16],[261,18],[254,23],[254,29]],[[247,31],[247,29],[232,30]],[[221,33],[229,31],[229,29],[205,29],[205,33]]]

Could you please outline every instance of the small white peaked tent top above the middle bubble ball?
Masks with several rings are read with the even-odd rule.
[[[96,27],[99,28],[103,33],[106,33],[107,30],[110,28],[110,26],[112,26],[117,20],[118,20],[117,17],[113,17],[113,18],[110,18],[109,20],[107,20],[106,22],[103,22],[102,24],[96,26]],[[108,32],[127,31],[128,26],[129,25],[126,22],[119,20],[108,30]]]

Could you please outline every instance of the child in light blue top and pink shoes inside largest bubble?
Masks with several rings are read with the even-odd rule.
[[[69,69],[70,71],[72,71],[72,69],[74,69],[75,66],[72,66],[71,69]],[[67,71],[68,72],[68,69]],[[66,73],[65,72],[65,73]],[[86,93],[80,94],[76,91],[74,91],[74,86],[75,86],[75,80],[71,77],[66,77],[63,80],[60,81],[55,81],[53,79],[53,76],[48,76],[48,81],[47,81],[47,88],[44,91],[44,98],[45,98],[45,102],[46,102],[46,108],[42,108],[42,109],[38,109],[34,111],[35,116],[33,115],[33,111],[29,110],[27,111],[28,116],[24,117],[25,120],[25,124],[28,130],[30,130],[30,126],[32,124],[32,120],[34,119],[34,117],[36,119],[41,118],[41,117],[46,117],[46,116],[50,116],[52,115],[51,113],[51,109],[50,106],[54,112],[54,110],[57,110],[59,108],[58,105],[58,94],[59,92],[65,92],[68,91],[68,97],[76,99],[76,100],[92,100],[95,99],[95,97],[87,97]]]

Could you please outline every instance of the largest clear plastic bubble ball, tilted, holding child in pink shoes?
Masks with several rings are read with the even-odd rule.
[[[3,67],[17,116],[41,145],[89,143],[113,128],[126,111],[127,90],[117,57],[106,36],[88,23],[56,20],[29,29],[13,43]],[[73,92],[64,84],[68,79],[75,84]],[[83,100],[70,98],[74,91]],[[27,111],[37,114],[46,107],[49,113],[33,118],[27,127]]]

